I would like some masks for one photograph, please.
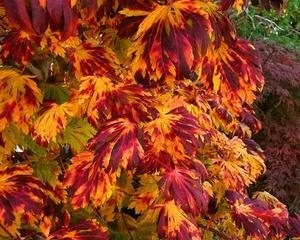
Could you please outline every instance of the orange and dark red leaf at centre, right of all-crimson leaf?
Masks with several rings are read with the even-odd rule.
[[[177,97],[163,97],[163,104],[156,106],[156,114],[145,124],[147,146],[142,171],[155,171],[162,166],[180,164],[192,166],[193,157],[201,146],[198,138],[201,127],[198,120],[184,108],[184,101]]]

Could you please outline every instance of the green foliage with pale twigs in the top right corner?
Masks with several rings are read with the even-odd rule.
[[[235,16],[239,34],[250,40],[275,41],[300,50],[300,1],[288,0],[285,10],[251,6]]]

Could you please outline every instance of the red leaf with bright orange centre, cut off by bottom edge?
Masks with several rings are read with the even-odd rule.
[[[174,201],[164,204],[158,218],[159,238],[170,240],[202,239],[197,225]]]

